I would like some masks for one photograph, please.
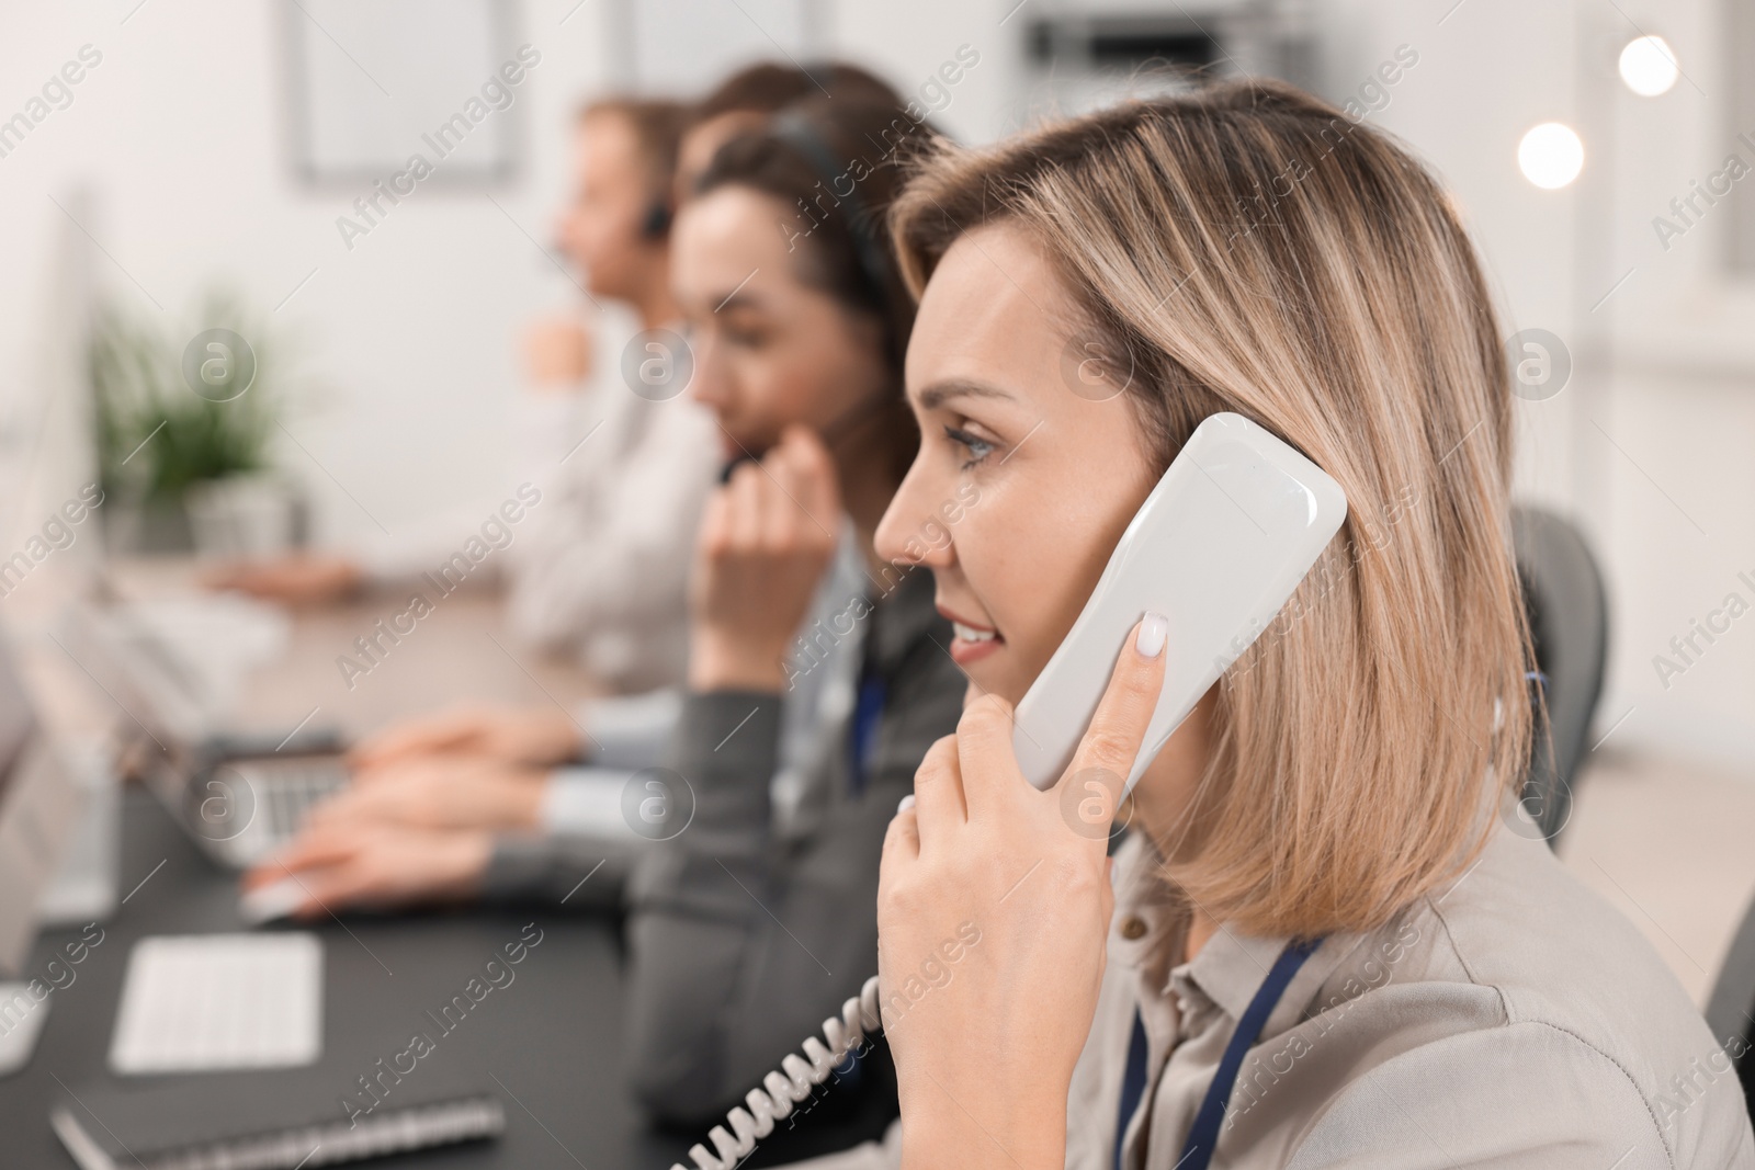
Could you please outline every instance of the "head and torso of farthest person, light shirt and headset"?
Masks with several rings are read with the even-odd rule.
[[[690,354],[669,288],[684,123],[683,105],[656,100],[607,98],[579,114],[577,196],[558,244],[588,293],[628,305],[641,332],[595,361],[590,393],[549,395],[555,414],[537,426],[555,437],[556,461],[583,467],[558,481],[555,507],[532,510],[532,531],[511,549],[512,630],[577,646],[586,670],[623,689],[679,677],[690,537],[718,470],[711,416],[683,395]],[[586,382],[593,361],[576,316],[535,326],[526,344],[539,386]]]

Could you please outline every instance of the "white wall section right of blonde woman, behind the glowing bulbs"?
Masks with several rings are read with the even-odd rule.
[[[1420,49],[1381,125],[1457,193],[1506,328],[1553,330],[1572,351],[1571,386],[1518,405],[1520,493],[1578,521],[1609,579],[1597,735],[1755,768],[1755,621],[1699,640],[1706,653],[1669,686],[1653,668],[1729,591],[1755,603],[1736,579],[1755,581],[1755,298],[1720,275],[1723,205],[1667,251],[1651,228],[1727,151],[1755,165],[1727,126],[1722,5],[1451,5],[1337,2],[1337,44],[1360,74],[1397,40]],[[1685,72],[1657,98],[1615,74],[1639,32],[1665,37]],[[1562,191],[1516,172],[1516,142],[1541,121],[1565,121],[1587,144],[1585,172]]]

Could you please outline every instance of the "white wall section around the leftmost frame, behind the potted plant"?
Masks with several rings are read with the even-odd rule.
[[[128,16],[133,4],[32,5],[0,37],[7,114],[82,44],[104,54],[72,105],[0,158],[0,393],[37,393],[40,289],[65,226],[51,196],[90,184],[98,218],[86,226],[109,254],[98,275],[167,326],[214,282],[269,312],[316,268],[274,323],[321,382],[288,419],[309,458],[291,446],[283,458],[316,493],[325,531],[367,531],[365,512],[395,530],[500,491],[518,330],[579,300],[525,232],[551,239],[569,116],[602,67],[598,0],[565,26],[572,0],[525,7],[519,40],[542,60],[512,114],[537,149],[493,191],[504,214],[479,193],[419,188],[351,251],[335,219],[353,195],[309,195],[288,177],[281,5],[149,2]]]

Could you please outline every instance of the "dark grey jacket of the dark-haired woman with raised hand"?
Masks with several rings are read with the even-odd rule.
[[[783,696],[688,696],[672,767],[693,821],[644,853],[628,891],[628,1072],[656,1117],[711,1121],[878,970],[885,830],[927,749],[956,730],[967,686],[932,593],[930,572],[913,572],[865,617],[886,702],[863,789],[842,719],[813,763],[818,807],[786,837],[769,789]]]

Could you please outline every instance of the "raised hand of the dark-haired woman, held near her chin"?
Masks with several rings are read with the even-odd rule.
[[[841,486],[823,442],[788,426],[713,493],[690,582],[695,691],[779,691],[786,649],[835,556]]]

